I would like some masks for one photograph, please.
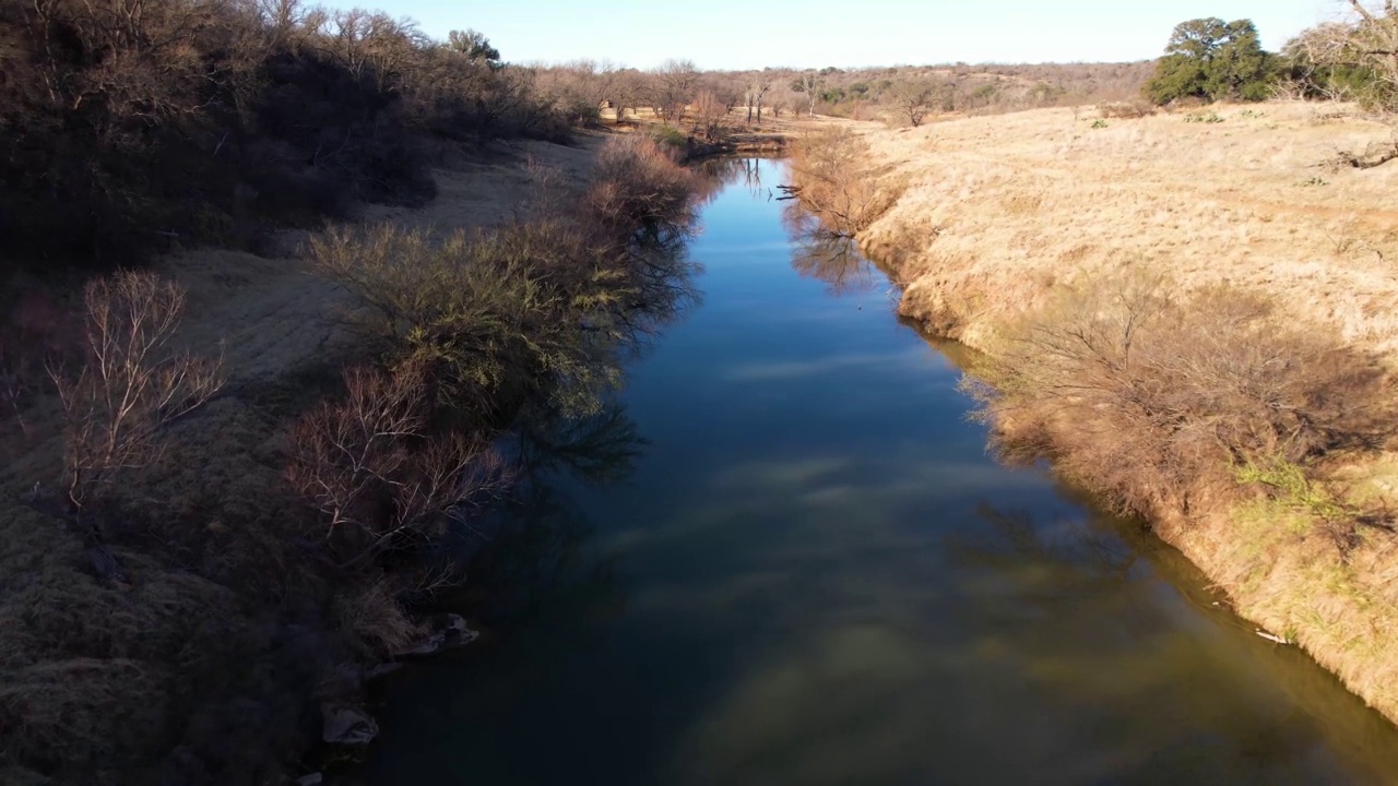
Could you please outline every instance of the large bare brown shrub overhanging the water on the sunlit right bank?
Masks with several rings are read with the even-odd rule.
[[[973,385],[983,414],[1134,513],[1191,512],[1237,467],[1304,466],[1391,431],[1373,358],[1233,290],[1184,298],[1141,273],[1060,287],[998,344]]]

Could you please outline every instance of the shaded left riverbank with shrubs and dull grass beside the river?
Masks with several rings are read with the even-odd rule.
[[[421,649],[414,604],[459,578],[443,538],[509,483],[492,442],[526,407],[586,407],[684,291],[674,249],[644,243],[682,245],[696,183],[607,141],[460,158],[428,206],[366,206],[270,256],[166,256],[115,295],[89,288],[85,320],[75,296],[48,303],[57,326],[87,322],[74,344],[112,306],[101,345],[137,369],[136,406],[103,408],[112,376],[74,351],[50,368],[91,404],[64,415],[31,368],[0,421],[0,780],[263,783],[331,720],[365,738],[365,673]],[[387,330],[369,316],[384,305]],[[212,394],[186,397],[190,362],[221,366]],[[189,413],[152,399],[165,379]],[[80,476],[74,422],[137,436]]]

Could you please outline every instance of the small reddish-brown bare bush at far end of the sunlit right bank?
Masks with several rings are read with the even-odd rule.
[[[793,193],[837,234],[854,236],[898,204],[907,180],[870,165],[868,143],[849,129],[812,133],[791,151]]]

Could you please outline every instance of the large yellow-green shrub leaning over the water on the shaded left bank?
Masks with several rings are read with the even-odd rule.
[[[365,303],[358,323],[377,351],[425,364],[453,406],[491,413],[544,393],[579,394],[570,404],[587,410],[615,379],[600,354],[621,276],[570,222],[446,238],[338,229],[313,239],[309,256]]]

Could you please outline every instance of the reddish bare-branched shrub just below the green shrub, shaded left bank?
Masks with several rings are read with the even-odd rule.
[[[287,478],[316,510],[344,566],[464,520],[506,484],[477,439],[428,429],[422,366],[345,372],[345,400],[306,413],[291,435]]]

